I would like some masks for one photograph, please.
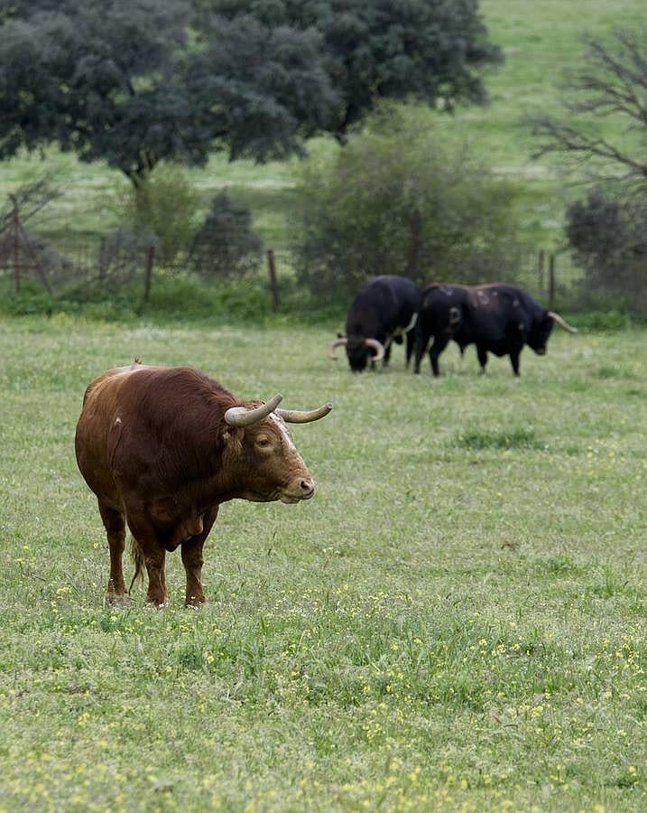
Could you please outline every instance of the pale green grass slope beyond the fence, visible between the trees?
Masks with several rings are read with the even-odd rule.
[[[448,138],[467,140],[477,155],[495,170],[522,182],[523,237],[533,248],[555,251],[563,244],[564,205],[583,191],[578,178],[561,171],[559,164],[534,161],[536,146],[522,119],[529,113],[559,112],[560,85],[565,71],[582,62],[581,36],[585,32],[609,33],[617,25],[644,23],[643,0],[587,0],[566,5],[557,0],[482,0],[482,13],[493,42],[504,50],[505,63],[486,79],[492,103],[487,107],[461,107],[452,117],[439,116],[439,129]],[[610,121],[610,130],[624,128]],[[327,139],[310,145],[313,152],[334,150]],[[115,211],[108,205],[116,187],[127,182],[102,164],[79,164],[73,155],[47,152],[1,164],[0,202],[21,184],[52,173],[64,192],[34,226],[43,237],[74,243],[97,239],[116,226]],[[226,187],[254,213],[254,222],[266,248],[286,245],[285,212],[291,202],[298,161],[258,166],[251,162],[229,164],[215,156],[206,168],[191,170],[189,178],[204,196],[205,208],[213,194]]]

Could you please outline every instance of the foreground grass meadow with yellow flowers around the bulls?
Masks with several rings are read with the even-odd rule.
[[[647,334],[433,380],[336,328],[0,320],[0,810],[647,807]],[[335,403],[314,500],[222,509],[201,612],[177,553],[168,609],[102,603],[74,425],[135,355]]]

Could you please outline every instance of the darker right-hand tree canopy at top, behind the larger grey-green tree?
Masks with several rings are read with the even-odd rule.
[[[379,98],[413,98],[451,110],[486,99],[481,69],[502,61],[487,40],[477,0],[206,0],[227,18],[321,32],[326,70],[339,94],[339,137]]]

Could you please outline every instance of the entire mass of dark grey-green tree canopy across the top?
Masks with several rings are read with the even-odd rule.
[[[14,0],[0,159],[56,143],[137,185],[162,160],[284,157],[377,98],[482,102],[499,58],[477,0]]]

